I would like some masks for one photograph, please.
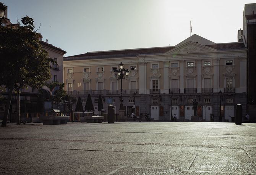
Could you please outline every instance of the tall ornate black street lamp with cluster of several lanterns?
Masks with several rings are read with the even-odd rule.
[[[128,69],[125,69],[123,67],[123,63],[121,62],[119,64],[120,69],[115,69],[114,73],[115,73],[115,79],[117,80],[121,80],[121,98],[120,98],[120,110],[123,109],[123,79],[127,80],[128,79],[128,75],[129,75],[129,71]]]

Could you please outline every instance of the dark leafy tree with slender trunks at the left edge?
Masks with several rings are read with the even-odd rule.
[[[42,48],[39,34],[34,31],[34,20],[28,16],[14,28],[0,27],[0,85],[9,88],[2,127],[6,126],[13,90],[16,92],[16,122],[20,124],[19,90],[28,86],[41,87],[50,79],[50,62]]]

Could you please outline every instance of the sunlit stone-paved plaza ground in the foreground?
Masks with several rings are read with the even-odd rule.
[[[0,133],[0,174],[256,174],[250,123],[9,124]]]

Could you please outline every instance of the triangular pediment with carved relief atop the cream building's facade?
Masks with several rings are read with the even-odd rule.
[[[218,52],[219,50],[207,47],[198,43],[195,43],[193,41],[189,41],[184,43],[183,45],[180,45],[176,48],[173,48],[172,50],[169,50],[164,53],[164,55],[170,55],[170,54],[191,54],[191,53],[212,53],[212,52]]]

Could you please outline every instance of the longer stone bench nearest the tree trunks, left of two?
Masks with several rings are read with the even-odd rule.
[[[40,120],[42,120],[43,125],[66,125],[69,116],[41,116]]]

